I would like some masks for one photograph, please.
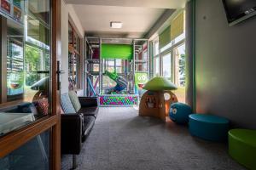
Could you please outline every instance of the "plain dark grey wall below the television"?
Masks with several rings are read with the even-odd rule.
[[[196,111],[256,128],[256,17],[228,26],[221,0],[195,3]]]

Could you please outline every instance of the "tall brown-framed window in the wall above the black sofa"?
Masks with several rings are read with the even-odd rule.
[[[68,82],[69,89],[81,87],[81,40],[72,24],[68,23]]]

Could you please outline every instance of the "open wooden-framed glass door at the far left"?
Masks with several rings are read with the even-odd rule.
[[[0,169],[58,167],[58,2],[0,1]]]

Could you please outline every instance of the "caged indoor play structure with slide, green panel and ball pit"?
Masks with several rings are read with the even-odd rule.
[[[148,39],[85,38],[84,95],[99,105],[137,105],[149,78]]]

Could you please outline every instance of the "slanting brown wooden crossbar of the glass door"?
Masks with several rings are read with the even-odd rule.
[[[38,122],[33,122],[14,133],[4,136],[0,140],[0,158],[7,156],[10,152],[18,149],[22,144],[26,144],[26,142],[38,136],[40,133],[44,133],[45,130],[54,126],[57,121],[57,116],[47,116],[38,120]]]

